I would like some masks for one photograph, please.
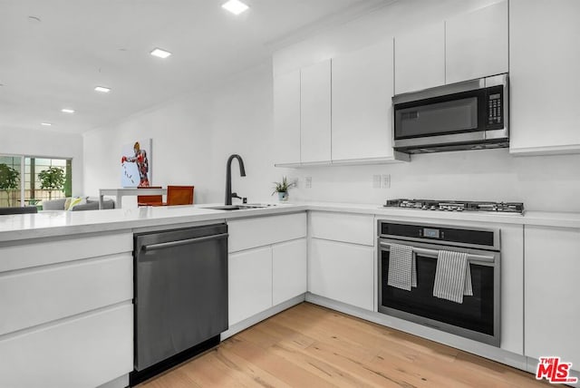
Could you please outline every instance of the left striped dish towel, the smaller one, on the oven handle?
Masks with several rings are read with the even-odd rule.
[[[417,263],[412,247],[391,244],[387,285],[407,291],[417,286]]]

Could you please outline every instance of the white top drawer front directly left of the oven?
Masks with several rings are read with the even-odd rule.
[[[310,236],[374,247],[374,217],[313,211],[310,214]]]

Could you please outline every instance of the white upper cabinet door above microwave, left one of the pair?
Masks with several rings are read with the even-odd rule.
[[[395,36],[395,94],[445,84],[445,24]]]

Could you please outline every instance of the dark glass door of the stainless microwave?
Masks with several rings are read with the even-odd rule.
[[[394,139],[412,139],[482,131],[486,89],[432,97],[394,106]]]

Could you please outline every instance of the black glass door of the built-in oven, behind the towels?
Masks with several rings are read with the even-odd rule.
[[[407,314],[428,318],[431,322],[461,327],[483,335],[494,336],[494,295],[497,289],[495,266],[488,263],[469,262],[473,296],[463,296],[463,303],[455,303],[433,296],[437,259],[415,254],[417,263],[417,287],[411,291],[387,285],[389,275],[389,250],[381,250],[381,296],[379,310],[398,310]],[[421,322],[426,324],[426,322]],[[438,326],[438,325],[435,325]],[[438,326],[439,327],[439,326]],[[445,325],[439,327],[446,330]],[[453,330],[446,330],[453,332]],[[455,333],[459,334],[459,333]]]

